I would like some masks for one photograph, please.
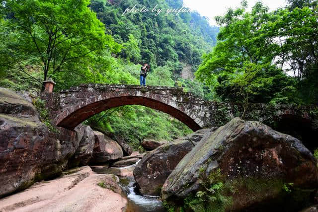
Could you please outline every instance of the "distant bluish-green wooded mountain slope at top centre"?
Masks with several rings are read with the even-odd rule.
[[[128,60],[131,60],[128,49],[135,51],[138,49],[136,47],[138,44],[142,57],[131,60],[135,63],[148,63],[153,68],[177,61],[199,65],[201,54],[215,45],[218,27],[209,26],[206,18],[198,13],[180,13],[177,16],[174,14],[165,16],[164,13],[156,16],[152,12],[122,15],[127,7],[136,5],[137,8],[142,6],[153,8],[156,4],[165,11],[169,5],[172,7],[182,5],[182,1],[128,0],[109,4],[92,0],[90,7],[116,41],[128,47],[128,43],[132,41],[131,37],[136,39],[133,48],[124,50],[123,57]],[[191,21],[193,24],[190,24]]]

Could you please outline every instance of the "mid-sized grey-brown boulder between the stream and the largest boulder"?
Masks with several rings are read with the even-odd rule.
[[[160,189],[179,161],[211,129],[196,131],[186,137],[163,144],[149,152],[136,165],[134,177],[144,195],[160,195]]]

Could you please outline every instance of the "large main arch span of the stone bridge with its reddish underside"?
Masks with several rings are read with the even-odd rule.
[[[42,93],[41,97],[47,101],[53,124],[69,130],[97,113],[124,105],[142,105],[162,111],[193,131],[204,127],[203,117],[210,116],[205,101],[181,88],[89,84],[58,93]]]

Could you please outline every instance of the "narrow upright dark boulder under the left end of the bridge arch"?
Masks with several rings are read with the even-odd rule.
[[[76,152],[69,161],[70,167],[85,166],[93,156],[94,132],[89,126],[82,126],[80,128],[83,129],[83,136],[79,141]]]

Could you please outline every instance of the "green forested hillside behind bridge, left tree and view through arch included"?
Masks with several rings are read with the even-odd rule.
[[[193,80],[193,72],[216,44],[218,27],[196,12],[123,15],[134,5],[180,8],[182,0],[1,2],[1,87],[39,91],[48,78],[56,81],[55,91],[81,83],[139,84],[141,64],[149,63],[148,85],[182,86],[212,98],[207,86]],[[144,138],[172,140],[190,132],[142,106],[111,109],[86,124],[125,135],[135,148]]]

